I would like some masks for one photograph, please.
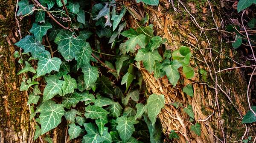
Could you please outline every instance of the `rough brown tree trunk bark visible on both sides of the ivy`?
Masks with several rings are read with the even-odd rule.
[[[134,3],[119,1],[127,6]],[[239,69],[215,74],[215,71],[220,69],[237,66],[226,56],[234,58],[239,55],[233,53],[230,45],[222,40],[223,33],[217,30],[203,30],[195,25],[196,20],[198,25],[204,28],[216,28],[217,25],[218,28],[224,29],[222,17],[225,17],[225,12],[220,7],[223,3],[212,1],[209,5],[205,0],[187,0],[183,4],[188,10],[181,3],[177,7],[177,3],[175,0],[174,6],[179,12],[174,11],[168,0],[160,0],[158,7],[144,8],[141,3],[137,4],[137,7],[135,4],[128,6],[138,20],[144,17],[144,12],[150,15],[150,23],[154,24],[156,34],[173,43],[166,44],[167,49],[175,50],[179,48],[177,45],[186,45],[193,51],[194,60],[191,64],[195,68],[195,78],[189,80],[181,76],[180,84],[176,87],[172,87],[166,77],[156,80],[152,74],[143,68],[140,69],[149,93],[165,96],[166,105],[159,115],[163,132],[168,135],[171,130],[178,131],[180,139],[173,140],[175,143],[226,143],[241,140],[247,128],[241,124],[241,118],[247,111],[247,86],[244,77]],[[35,123],[29,121],[27,93],[20,92],[18,88],[22,76],[16,76],[17,68],[20,67],[13,57],[13,43],[20,38],[15,23],[16,1],[2,0],[0,7],[0,143],[40,143],[40,139],[33,142]],[[192,15],[195,20],[191,18]],[[24,25],[20,24],[24,36],[30,28],[30,21],[23,22]],[[137,25],[131,20],[130,26]],[[200,69],[207,71],[206,82],[199,73]],[[180,73],[182,75],[182,70]],[[189,83],[193,85],[195,93],[192,98],[182,92],[184,85]],[[175,101],[182,103],[184,107],[192,105],[195,121],[201,124],[201,136],[190,130],[189,116],[183,109],[175,109],[171,105]],[[195,121],[192,123],[195,124]],[[252,127],[248,128],[253,131]],[[63,122],[53,130],[51,137],[54,143],[64,142],[65,130]],[[253,135],[251,132],[249,135]]]

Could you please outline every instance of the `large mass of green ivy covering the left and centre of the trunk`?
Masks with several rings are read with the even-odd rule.
[[[159,3],[137,2],[152,6]],[[164,107],[164,95],[152,94],[145,100],[142,95],[148,93],[137,67],[141,61],[156,79],[166,75],[175,87],[180,67],[187,79],[194,77],[189,66],[190,49],[165,50],[161,56],[158,50],[163,50],[166,39],[154,36],[153,25],[147,25],[148,17],[136,30],[124,31],[127,24],[122,19],[128,9],[114,0],[63,0],[65,6],[61,0],[39,3],[47,9],[29,0],[18,3],[17,16],[32,15],[35,22],[30,34],[15,43],[22,52],[14,54],[20,64],[25,64],[17,74],[26,74],[20,91],[29,91],[30,119],[38,123],[34,140],[57,127],[64,117],[69,140],[83,136],[82,143],[161,143],[162,127],[157,115]],[[63,29],[47,17],[47,12],[70,29]],[[194,95],[190,84],[183,92]],[[183,108],[194,121],[191,105],[172,105]],[[201,135],[199,123],[191,130]],[[172,130],[170,138],[179,137]],[[52,142],[48,135],[44,140]]]

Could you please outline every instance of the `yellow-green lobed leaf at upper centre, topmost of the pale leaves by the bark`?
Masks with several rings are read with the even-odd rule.
[[[139,45],[140,48],[145,48],[145,38],[146,36],[144,34],[140,34],[138,36],[134,36],[128,39],[125,42],[126,52],[128,53],[129,51],[131,51],[131,53],[134,53],[137,45]]]

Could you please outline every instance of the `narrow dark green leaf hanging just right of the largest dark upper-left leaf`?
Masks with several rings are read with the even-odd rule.
[[[84,66],[90,64],[90,55],[92,53],[92,48],[90,47],[90,44],[88,42],[84,42],[84,45],[79,50],[79,52],[76,54],[76,61],[77,61],[77,70]]]

